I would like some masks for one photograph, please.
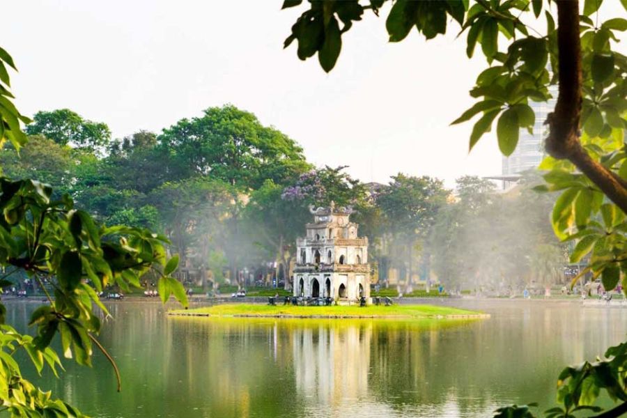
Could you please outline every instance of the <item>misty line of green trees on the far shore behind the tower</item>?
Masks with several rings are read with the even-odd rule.
[[[38,112],[26,132],[20,155],[4,145],[7,176],[47,182],[104,224],[164,233],[180,254],[180,277],[203,286],[227,277],[290,286],[307,206],[331,201],[357,211],[380,281],[435,273],[447,286],[478,288],[563,275],[565,251],[545,216],[552,198],[532,192],[532,178],[516,194],[471,177],[456,191],[402,173],[364,184],[346,167],[314,167],[293,139],[231,105],[123,139],[69,109]]]

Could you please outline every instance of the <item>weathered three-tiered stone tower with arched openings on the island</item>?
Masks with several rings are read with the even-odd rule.
[[[368,238],[359,238],[359,225],[350,222],[351,208],[309,207],[314,222],[307,236],[296,240],[294,295],[331,297],[338,303],[370,297]]]

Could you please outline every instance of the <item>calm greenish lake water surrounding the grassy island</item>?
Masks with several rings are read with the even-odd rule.
[[[93,417],[490,417],[555,399],[565,364],[627,336],[627,307],[458,301],[486,320],[168,318],[153,302],[109,304],[94,369],[65,360],[33,378]],[[24,329],[37,305],[8,302]],[[28,373],[32,375],[33,373]]]

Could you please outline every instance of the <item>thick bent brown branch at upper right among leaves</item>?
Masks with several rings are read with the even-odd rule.
[[[627,185],[610,169],[590,157],[579,140],[581,114],[581,42],[579,1],[557,0],[559,95],[555,111],[547,118],[550,134],[546,150],[558,160],[570,160],[610,200],[627,213]]]

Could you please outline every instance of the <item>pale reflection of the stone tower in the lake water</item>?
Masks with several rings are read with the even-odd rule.
[[[293,331],[296,390],[308,403],[337,405],[368,392],[372,324],[333,323]]]

